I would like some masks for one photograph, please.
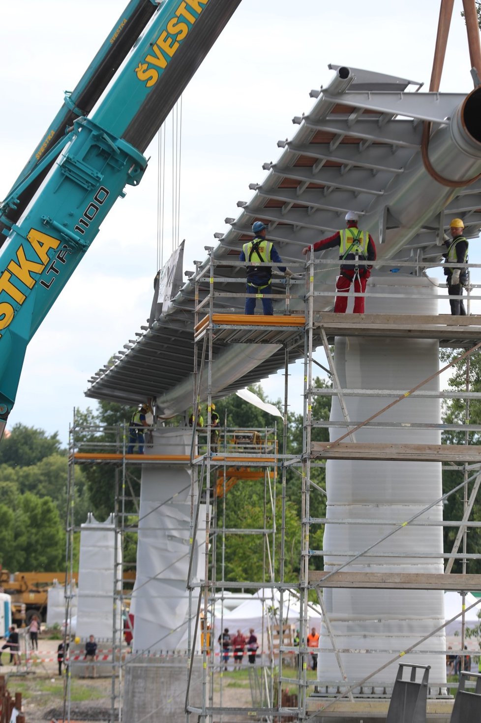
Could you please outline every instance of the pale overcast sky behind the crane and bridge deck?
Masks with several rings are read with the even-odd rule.
[[[0,197],[5,197],[43,131],[72,90],[126,0],[23,0],[2,8]],[[277,140],[292,137],[292,118],[308,111],[308,93],[332,77],[328,64],[391,73],[428,89],[439,0],[243,0],[183,94],[181,214],[184,268],[203,259],[204,245],[226,231],[262,163],[279,155]],[[462,0],[455,0],[441,90],[472,90]],[[168,131],[168,134],[170,131]],[[127,188],[27,348],[17,422],[58,431],[66,442],[74,407],[87,379],[134,338],[149,315],[157,272],[157,140],[138,188]],[[170,171],[171,173],[171,171]],[[172,250],[165,217],[164,259]],[[473,244],[472,244],[473,245]],[[477,261],[475,249],[470,260]],[[441,309],[447,312],[448,309]],[[301,372],[293,368],[295,411],[301,411]],[[282,377],[263,382],[283,395]]]

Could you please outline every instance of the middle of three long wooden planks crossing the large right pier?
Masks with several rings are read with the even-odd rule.
[[[332,448],[332,449],[331,449]],[[479,445],[408,445],[376,442],[312,442],[313,458],[405,462],[479,462]]]

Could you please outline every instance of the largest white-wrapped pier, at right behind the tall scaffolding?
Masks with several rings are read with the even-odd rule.
[[[392,299],[376,292],[396,294]],[[436,313],[436,292],[425,278],[383,277],[373,280],[366,303],[367,312],[404,314]],[[404,294],[407,298],[400,298]],[[410,299],[422,295],[425,300]],[[344,338],[335,343],[334,360],[343,388],[372,389],[371,398],[346,398],[350,419],[359,422],[386,406],[391,399],[376,396],[377,389],[410,389],[438,369],[438,342],[423,339]],[[438,390],[438,377],[425,386]],[[409,422],[439,423],[441,403],[438,399],[407,398],[384,413],[380,422],[402,422],[403,429],[360,429],[356,442],[417,442],[439,444],[440,432],[410,429]],[[334,398],[331,419],[342,421],[339,401]],[[332,427],[331,440],[341,432]],[[372,524],[326,524],[324,564],[326,570],[343,565],[378,539],[407,521],[441,497],[441,463],[329,461],[326,467],[327,512],[332,520],[369,520]],[[441,520],[442,505],[422,515],[421,521]],[[423,552],[439,557],[419,557]],[[345,570],[355,572],[442,573],[443,533],[441,526],[406,526]],[[391,556],[391,555],[394,555]],[[334,629],[338,648],[369,650],[370,654],[343,653],[342,662],[350,685],[378,669],[399,651],[442,625],[444,619],[442,591],[345,590],[324,591],[326,609]],[[329,648],[326,629],[321,630],[321,647]],[[428,639],[421,650],[446,649],[443,633]],[[384,651],[384,652],[381,652]],[[390,651],[390,652],[387,652]],[[430,680],[446,681],[446,660],[441,654],[410,654],[403,662],[431,666]],[[397,664],[373,677],[382,693],[393,684]],[[320,681],[341,680],[334,653],[319,655]]]

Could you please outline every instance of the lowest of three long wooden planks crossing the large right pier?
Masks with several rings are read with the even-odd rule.
[[[324,581],[328,575],[329,578]],[[481,591],[481,575],[443,573],[327,573],[325,570],[309,570],[309,583],[322,588]]]

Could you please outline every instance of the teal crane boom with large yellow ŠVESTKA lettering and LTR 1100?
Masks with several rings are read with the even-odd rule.
[[[127,185],[139,184],[145,149],[240,2],[151,2],[157,7],[149,18],[147,2],[132,1],[126,11],[136,14],[137,26],[148,22],[108,92],[91,117],[77,116],[69,96],[66,107],[77,117],[59,112],[58,135],[66,132],[40,158],[34,153],[0,205],[6,236],[0,250],[0,438],[27,344],[116,199]],[[103,48],[96,57],[101,64]],[[94,83],[92,99],[108,82],[108,72],[99,80],[97,61],[79,84],[84,93]]]

